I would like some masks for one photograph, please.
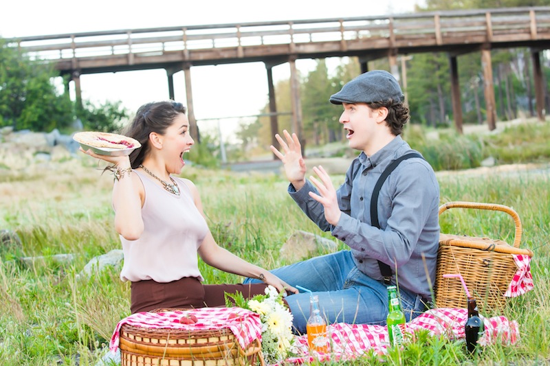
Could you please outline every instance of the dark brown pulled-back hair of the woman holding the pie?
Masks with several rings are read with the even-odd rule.
[[[153,102],[140,106],[129,126],[124,128],[123,135],[133,137],[142,144],[141,148],[133,150],[130,154],[130,163],[135,169],[143,162],[145,155],[151,149],[149,146],[149,134],[154,132],[159,135],[166,133],[166,128],[173,124],[175,117],[180,113],[186,113],[186,107],[177,102]]]

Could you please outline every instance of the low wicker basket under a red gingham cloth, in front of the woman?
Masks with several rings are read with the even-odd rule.
[[[158,309],[164,312],[181,309]],[[122,366],[264,366],[261,342],[243,350],[228,328],[176,330],[124,324],[120,328]]]

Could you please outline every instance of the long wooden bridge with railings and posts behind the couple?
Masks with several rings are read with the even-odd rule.
[[[446,52],[450,60],[454,120],[456,129],[461,133],[457,56],[469,52],[482,54],[489,129],[496,127],[492,49],[531,49],[537,113],[539,119],[544,119],[540,52],[550,45],[550,7],[113,30],[27,36],[13,39],[13,43],[31,56],[54,62],[61,74],[69,74],[69,80],[75,83],[77,100],[80,100],[80,75],[83,73],[159,68],[166,69],[168,96],[174,98],[173,74],[183,70],[188,117],[196,138],[198,129],[193,113],[190,77],[192,66],[264,62],[269,85],[271,125],[275,133],[278,130],[278,113],[272,67],[288,62],[291,71],[292,126],[301,137],[297,59],[355,56],[359,58],[364,72],[368,70],[370,60],[388,57],[391,72],[399,80],[398,55]],[[277,146],[276,140],[274,145]]]

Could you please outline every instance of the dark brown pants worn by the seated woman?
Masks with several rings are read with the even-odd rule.
[[[225,306],[224,293],[242,293],[245,299],[264,294],[266,284],[203,285],[196,277],[161,284],[152,279],[131,284],[131,312],[159,308],[214,308]]]

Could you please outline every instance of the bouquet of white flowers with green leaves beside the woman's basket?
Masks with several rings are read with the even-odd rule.
[[[265,288],[265,295],[256,295],[246,301],[241,293],[225,293],[226,306],[239,306],[256,312],[262,323],[262,353],[267,364],[276,364],[298,354],[292,334],[292,314],[283,303],[283,294],[273,286]]]

